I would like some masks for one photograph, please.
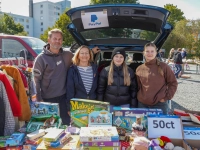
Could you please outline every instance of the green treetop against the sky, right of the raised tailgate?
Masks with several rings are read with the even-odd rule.
[[[184,13],[177,6],[174,6],[173,4],[166,4],[164,5],[164,8],[171,12],[167,21],[173,26],[175,26],[178,21],[185,19],[183,16]]]

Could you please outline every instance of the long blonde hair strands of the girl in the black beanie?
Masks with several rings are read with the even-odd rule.
[[[131,78],[128,71],[128,66],[126,65],[125,61],[122,63],[122,67],[123,67],[123,75],[124,75],[124,85],[130,86]],[[111,85],[113,83],[113,70],[114,70],[114,61],[112,60],[110,63],[110,69],[108,72],[108,85]]]

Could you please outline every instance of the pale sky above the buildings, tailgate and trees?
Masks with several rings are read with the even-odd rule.
[[[33,2],[41,2],[46,0],[33,0]],[[48,0],[58,2],[61,0]],[[71,6],[78,7],[88,5],[90,0],[70,0]],[[29,0],[0,0],[1,11],[13,13],[17,15],[28,16]],[[154,5],[164,7],[165,4],[177,5],[184,12],[186,19],[200,19],[200,0],[139,0],[140,4]]]

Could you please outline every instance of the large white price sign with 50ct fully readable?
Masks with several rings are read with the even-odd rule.
[[[157,138],[160,136],[182,139],[183,134],[180,117],[168,115],[149,115],[148,137]]]

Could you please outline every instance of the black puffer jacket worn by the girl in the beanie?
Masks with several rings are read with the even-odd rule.
[[[109,69],[110,66],[104,68],[100,73],[97,99],[110,102],[111,105],[115,106],[130,104],[131,107],[137,107],[137,84],[133,70],[128,68],[131,85],[125,86],[122,66],[114,66],[113,83],[108,85]]]

